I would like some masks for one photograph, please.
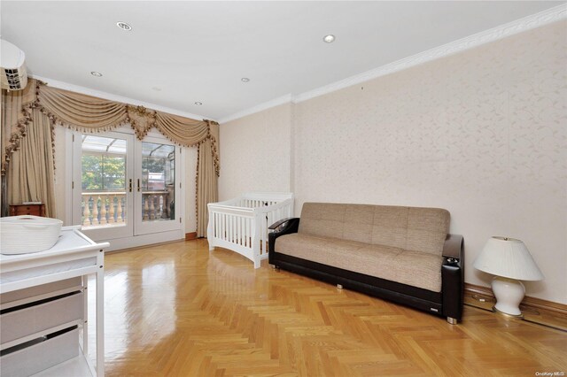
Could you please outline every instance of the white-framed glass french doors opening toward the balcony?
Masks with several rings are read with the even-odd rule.
[[[73,142],[73,223],[86,235],[111,240],[181,229],[179,147],[121,132],[75,134]]]

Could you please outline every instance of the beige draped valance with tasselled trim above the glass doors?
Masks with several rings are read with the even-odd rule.
[[[37,80],[30,80],[27,88],[20,92],[11,92],[11,96],[14,95],[17,100],[12,101],[10,108],[7,106],[5,109],[6,112],[12,112],[12,117],[6,119],[9,121],[6,125],[9,128],[3,129],[4,137],[7,136],[2,157],[3,174],[12,152],[19,148],[19,140],[26,135],[27,126],[32,119],[32,111],[36,109],[47,115],[54,125],[71,127],[84,133],[110,131],[116,127],[129,125],[134,129],[139,140],[142,140],[154,127],[170,141],[184,147],[196,147],[206,140],[211,140],[214,170],[216,175],[219,175],[217,148],[219,125],[214,121],[184,118],[146,109],[144,106],[122,104],[51,88]]]

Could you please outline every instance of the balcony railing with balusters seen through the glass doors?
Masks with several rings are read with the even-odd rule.
[[[170,219],[172,214],[168,191],[142,194],[143,221]],[[82,227],[120,227],[127,219],[126,192],[82,192]]]

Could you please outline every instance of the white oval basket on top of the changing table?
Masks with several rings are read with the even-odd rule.
[[[63,221],[39,216],[0,218],[0,253],[27,254],[50,249],[61,234]]]

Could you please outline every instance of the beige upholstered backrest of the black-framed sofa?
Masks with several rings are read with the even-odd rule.
[[[441,255],[449,222],[440,208],[305,203],[299,233]]]

